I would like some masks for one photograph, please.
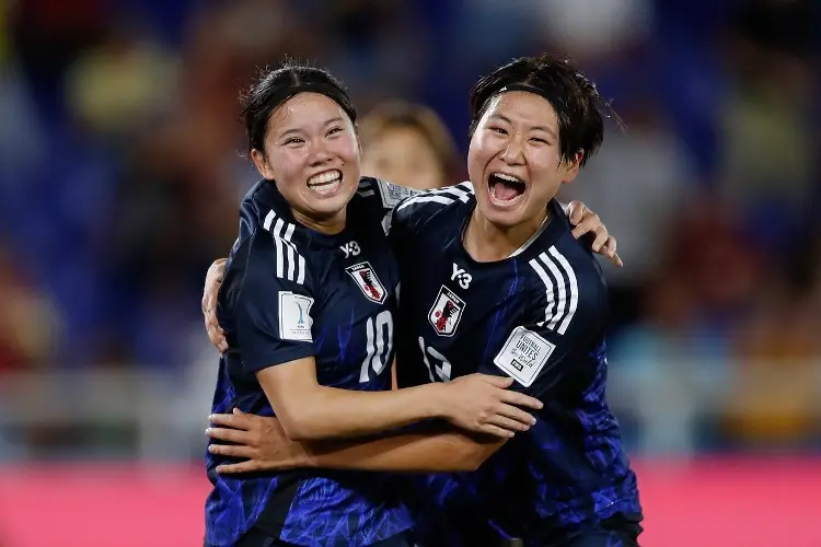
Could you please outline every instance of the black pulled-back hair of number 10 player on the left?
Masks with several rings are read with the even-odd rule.
[[[265,153],[265,135],[268,118],[282,103],[302,92],[325,95],[345,110],[351,124],[357,121],[357,110],[348,90],[327,70],[285,61],[276,69],[265,69],[259,79],[241,97],[242,115],[248,138],[248,152],[256,149]]]

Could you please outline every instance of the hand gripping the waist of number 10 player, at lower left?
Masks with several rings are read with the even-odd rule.
[[[206,434],[212,441],[208,452],[244,459],[234,464],[217,466],[217,473],[250,473],[292,469],[305,464],[307,452],[300,443],[288,439],[276,418],[245,414],[234,409],[233,414],[217,414],[208,417],[211,427]]]

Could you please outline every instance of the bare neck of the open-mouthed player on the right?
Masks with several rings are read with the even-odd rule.
[[[476,208],[464,231],[464,248],[477,263],[504,260],[539,231],[547,216],[547,210],[545,210],[544,214],[529,219],[521,224],[498,226],[488,221]]]

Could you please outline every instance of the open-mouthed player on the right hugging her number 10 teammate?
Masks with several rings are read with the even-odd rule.
[[[252,458],[222,470],[459,465],[477,470],[430,481],[417,522],[424,545],[442,545],[437,534],[448,527],[467,535],[477,515],[525,545],[637,545],[636,478],[604,395],[605,286],[555,200],[602,142],[600,104],[567,61],[522,58],[499,68],[471,95],[471,182],[410,197],[392,214],[400,386],[477,371],[512,377],[544,403],[530,431],[498,441],[447,430],[317,446],[277,434],[275,420],[221,417],[240,427],[224,435],[240,446],[212,450]],[[262,427],[266,435],[247,434]]]

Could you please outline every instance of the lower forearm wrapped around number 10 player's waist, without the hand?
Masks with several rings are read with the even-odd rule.
[[[479,440],[455,430],[395,434],[372,441],[307,442],[299,466],[373,472],[471,472],[496,452],[504,440]]]

